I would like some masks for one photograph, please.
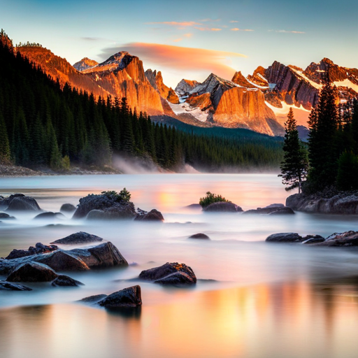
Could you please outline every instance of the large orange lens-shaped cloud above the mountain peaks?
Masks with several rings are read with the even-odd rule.
[[[235,70],[229,66],[231,58],[247,57],[237,52],[185,48],[158,43],[127,43],[120,49],[106,48],[101,57],[107,59],[119,50],[128,51],[131,55],[138,56],[144,63],[157,66],[157,69],[180,71],[180,76],[184,76],[185,72],[201,73],[203,76],[208,76],[213,72],[227,79],[231,79],[235,73]]]

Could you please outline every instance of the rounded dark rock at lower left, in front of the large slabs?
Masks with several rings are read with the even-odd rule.
[[[49,266],[38,262],[28,262],[16,267],[6,281],[10,282],[47,282],[57,278],[57,273]]]

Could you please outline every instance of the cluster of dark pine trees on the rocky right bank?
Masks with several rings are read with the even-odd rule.
[[[358,189],[358,98],[340,103],[327,78],[309,117],[308,146],[300,143],[292,110],[286,122],[281,163],[287,190],[301,187],[312,194],[324,189]]]

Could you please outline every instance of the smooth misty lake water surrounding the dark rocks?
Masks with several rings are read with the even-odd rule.
[[[51,211],[62,203],[76,205],[87,194],[123,187],[136,207],[162,211],[164,223],[32,220],[34,213],[15,213],[17,220],[0,224],[0,257],[13,248],[86,231],[111,241],[130,264],[69,273],[83,287],[38,283],[29,285],[31,292],[0,291],[1,358],[357,357],[358,251],[264,242],[277,232],[358,231],[356,216],[185,208],[207,191],[243,210],[285,203],[288,194],[276,175],[0,178],[0,195],[22,192]],[[199,232],[211,240],[188,238]],[[166,262],[191,266],[199,279],[196,287],[169,289],[133,280],[143,269]],[[136,284],[142,288],[141,310],[110,313],[74,303]]]

